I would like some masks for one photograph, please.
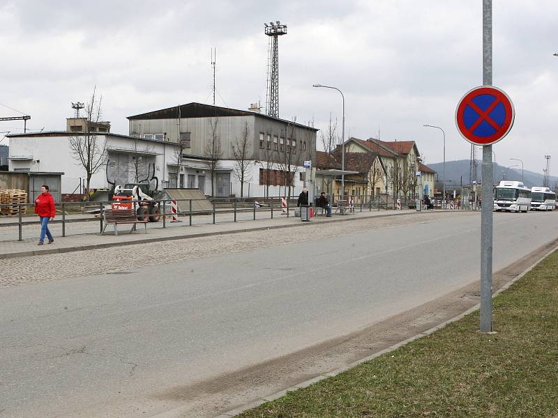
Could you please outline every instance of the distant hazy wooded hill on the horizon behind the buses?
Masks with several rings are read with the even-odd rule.
[[[476,176],[477,180],[481,181],[481,174],[483,171],[481,160],[476,162]],[[436,171],[437,178],[442,178],[444,163],[437,162],[434,164],[428,164],[432,170]],[[513,167],[513,169],[508,169],[508,167],[503,167],[499,164],[494,164],[494,175],[495,183],[502,180],[516,180],[521,181],[521,169]],[[447,183],[449,186],[467,185],[469,184],[469,160],[458,160],[458,161],[446,161],[446,180],[450,180],[451,183]],[[535,173],[534,171],[525,170],[523,172],[523,183],[527,187],[541,186],[543,185],[544,176],[543,174]],[[550,176],[550,184],[555,185],[558,181],[557,177]],[[462,183],[461,183],[462,182]]]

